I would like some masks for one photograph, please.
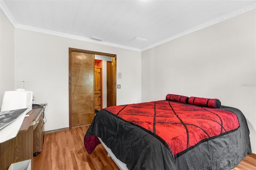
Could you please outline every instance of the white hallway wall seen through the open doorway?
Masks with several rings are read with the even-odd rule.
[[[112,61],[112,57],[95,55],[95,59],[102,60],[102,108],[107,107],[107,61]]]

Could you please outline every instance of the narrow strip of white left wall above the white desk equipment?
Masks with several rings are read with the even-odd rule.
[[[5,91],[14,89],[14,27],[0,10],[0,107]]]

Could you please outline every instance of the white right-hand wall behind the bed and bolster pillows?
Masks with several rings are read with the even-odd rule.
[[[256,10],[142,52],[142,102],[166,94],[240,109],[256,153]],[[246,85],[247,84],[247,85]]]

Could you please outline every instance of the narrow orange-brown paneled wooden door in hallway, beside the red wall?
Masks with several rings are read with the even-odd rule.
[[[94,66],[94,109],[101,109],[101,68]]]

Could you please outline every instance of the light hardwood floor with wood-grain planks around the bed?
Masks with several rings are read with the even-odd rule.
[[[45,135],[44,148],[34,157],[34,170],[119,170],[102,144],[88,154],[84,147],[88,127]],[[246,156],[233,170],[256,170],[256,154]]]

